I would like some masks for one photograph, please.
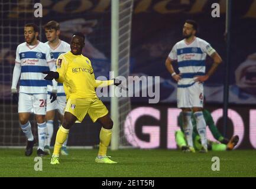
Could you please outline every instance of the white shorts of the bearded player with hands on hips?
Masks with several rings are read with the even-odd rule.
[[[189,87],[178,87],[177,106],[203,107],[203,83],[196,82]]]

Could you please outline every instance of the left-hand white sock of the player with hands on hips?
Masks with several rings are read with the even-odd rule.
[[[184,116],[184,119],[186,119],[184,120],[183,130],[187,139],[187,145],[189,145],[190,147],[193,147],[193,138],[192,138],[193,125],[191,121],[192,112],[183,112],[183,116]]]

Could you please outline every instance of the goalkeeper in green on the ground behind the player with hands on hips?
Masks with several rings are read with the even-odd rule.
[[[208,140],[208,150],[212,150],[212,151],[232,150],[239,141],[238,135],[232,136],[230,140],[224,138],[221,135],[221,133],[218,131],[218,128],[213,122],[212,115],[210,115],[210,112],[208,110],[203,109],[203,117],[205,118],[206,125],[209,126],[210,132],[212,133],[213,137],[217,141],[219,141],[219,142],[213,142]],[[182,149],[182,151],[190,152],[192,150],[187,146],[186,137],[183,131],[182,112],[178,117],[178,125],[180,126],[181,130],[175,132],[176,144],[177,146],[179,146],[180,149]],[[193,125],[192,137],[193,137],[194,148],[195,150],[199,151],[202,148],[202,145],[201,145],[199,133],[197,132],[197,129],[196,129],[196,119],[193,115],[192,115],[192,125]],[[192,151],[192,152],[195,152],[195,151]]]

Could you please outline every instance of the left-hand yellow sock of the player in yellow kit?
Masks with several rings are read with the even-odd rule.
[[[60,148],[63,145],[64,141],[66,141],[67,135],[69,135],[69,129],[65,129],[61,125],[59,130],[57,131],[56,141],[55,141],[54,150],[53,150],[53,155],[59,156]]]

